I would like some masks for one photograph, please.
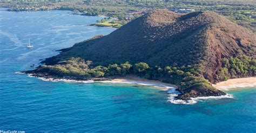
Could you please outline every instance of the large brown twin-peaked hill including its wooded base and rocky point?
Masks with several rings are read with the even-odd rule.
[[[59,55],[46,58],[46,67],[32,73],[43,69],[48,75],[60,71],[71,76],[67,73],[75,68],[85,71],[86,76],[80,73],[84,77],[95,77],[92,71],[104,73],[97,77],[132,73],[179,85],[180,99],[223,95],[211,83],[255,76],[255,42],[254,33],[213,12],[155,10],[109,35],[62,49]],[[85,63],[86,70],[79,67],[84,61],[92,61]],[[74,63],[77,65],[70,69]],[[96,70],[98,65],[105,69]]]

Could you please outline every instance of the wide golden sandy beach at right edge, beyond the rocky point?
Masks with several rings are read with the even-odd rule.
[[[219,90],[230,90],[231,88],[237,89],[237,88],[243,88],[243,87],[253,87],[253,86],[256,86],[256,77],[228,79],[225,82],[212,84],[212,86],[214,86]]]

